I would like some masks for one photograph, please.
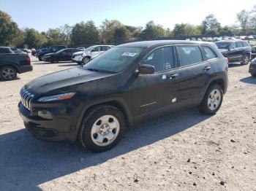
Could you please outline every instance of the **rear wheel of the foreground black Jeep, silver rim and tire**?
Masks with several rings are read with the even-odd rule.
[[[223,100],[223,90],[220,85],[214,84],[208,87],[199,109],[204,114],[215,114],[218,112]]]

